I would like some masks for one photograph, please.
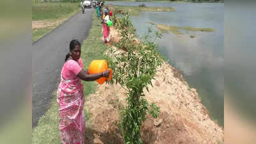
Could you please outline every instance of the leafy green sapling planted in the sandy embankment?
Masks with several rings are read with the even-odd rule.
[[[120,19],[114,15],[113,21],[122,36],[115,46],[125,49],[122,56],[111,49],[113,56],[108,58],[109,67],[113,68],[111,83],[119,83],[127,92],[127,105],[122,109],[120,118],[124,140],[127,144],[142,144],[140,128],[147,113],[154,118],[159,116],[159,108],[154,103],[148,104],[143,89],[148,91],[148,86],[152,86],[156,68],[163,62],[163,57],[157,51],[158,45],[154,43],[162,35],[148,28],[148,35],[143,38],[143,42],[136,42],[128,14]]]

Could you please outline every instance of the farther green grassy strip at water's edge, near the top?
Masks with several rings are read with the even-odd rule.
[[[129,15],[140,15],[140,12],[149,11],[149,12],[169,12],[175,11],[172,7],[139,7],[139,6],[113,6],[118,13],[126,13]]]

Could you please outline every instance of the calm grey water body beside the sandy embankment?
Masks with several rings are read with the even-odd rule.
[[[158,41],[159,51],[170,65],[179,68],[191,88],[196,88],[204,106],[209,109],[212,119],[223,126],[223,88],[224,88],[224,51],[223,51],[223,3],[147,3],[108,1],[107,4],[138,6],[171,6],[175,12],[142,12],[132,16],[136,35],[147,33],[148,22],[167,26],[192,26],[213,28],[214,32],[180,30],[184,35],[164,33]],[[190,35],[195,35],[191,38]]]

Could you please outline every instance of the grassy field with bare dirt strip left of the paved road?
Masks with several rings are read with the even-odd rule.
[[[32,40],[46,35],[79,10],[79,3],[33,3]]]

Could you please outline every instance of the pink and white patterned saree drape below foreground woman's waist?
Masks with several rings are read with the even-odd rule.
[[[60,139],[62,144],[84,144],[84,93],[81,80],[64,79],[57,92],[60,115]]]

